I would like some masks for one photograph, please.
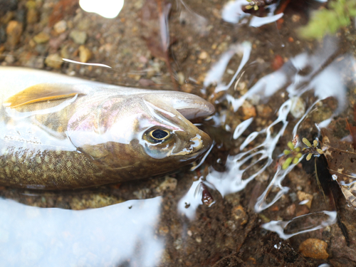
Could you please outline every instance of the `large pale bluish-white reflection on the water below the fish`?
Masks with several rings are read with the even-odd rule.
[[[157,266],[161,201],[74,211],[0,199],[0,266]]]

